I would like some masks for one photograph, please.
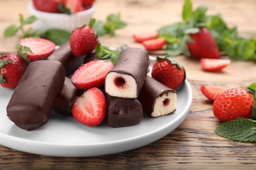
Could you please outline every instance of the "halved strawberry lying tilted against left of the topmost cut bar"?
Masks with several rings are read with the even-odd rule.
[[[87,90],[104,84],[106,74],[114,67],[109,60],[94,60],[81,65],[72,76],[76,88]]]

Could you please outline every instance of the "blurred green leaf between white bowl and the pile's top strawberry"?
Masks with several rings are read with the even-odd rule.
[[[63,29],[48,29],[43,37],[56,45],[62,45],[70,40],[70,36],[71,33]]]

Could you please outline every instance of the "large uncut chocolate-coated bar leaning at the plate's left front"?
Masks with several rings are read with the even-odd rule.
[[[62,89],[65,70],[59,61],[33,61],[16,86],[7,105],[7,116],[28,131],[43,126]]]

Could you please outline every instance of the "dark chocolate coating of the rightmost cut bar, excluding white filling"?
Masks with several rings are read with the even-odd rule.
[[[175,90],[168,88],[167,86],[161,84],[154,78],[146,76],[146,81],[140,91],[138,100],[140,101],[143,111],[152,113],[156,103],[156,99],[164,95],[165,93],[176,93]]]

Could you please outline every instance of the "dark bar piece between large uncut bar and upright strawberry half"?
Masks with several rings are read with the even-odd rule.
[[[53,105],[53,110],[64,116],[72,116],[69,110],[69,104],[83,93],[83,90],[75,88],[70,78],[65,77],[65,81],[58,97],[56,97]]]

